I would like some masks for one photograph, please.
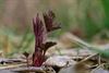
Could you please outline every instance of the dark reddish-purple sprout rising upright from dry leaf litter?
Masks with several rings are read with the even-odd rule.
[[[56,45],[56,42],[47,41],[48,32],[52,32],[55,29],[60,28],[58,24],[55,23],[55,13],[49,11],[48,13],[44,13],[44,21],[37,14],[36,19],[33,20],[34,34],[35,34],[35,51],[33,53],[33,65],[40,66],[45,61],[45,53],[48,48]]]

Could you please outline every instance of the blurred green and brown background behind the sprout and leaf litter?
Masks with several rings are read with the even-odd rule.
[[[0,0],[0,50],[4,56],[33,51],[32,19],[48,10],[62,26],[51,38],[68,32],[87,41],[109,37],[109,0]]]

